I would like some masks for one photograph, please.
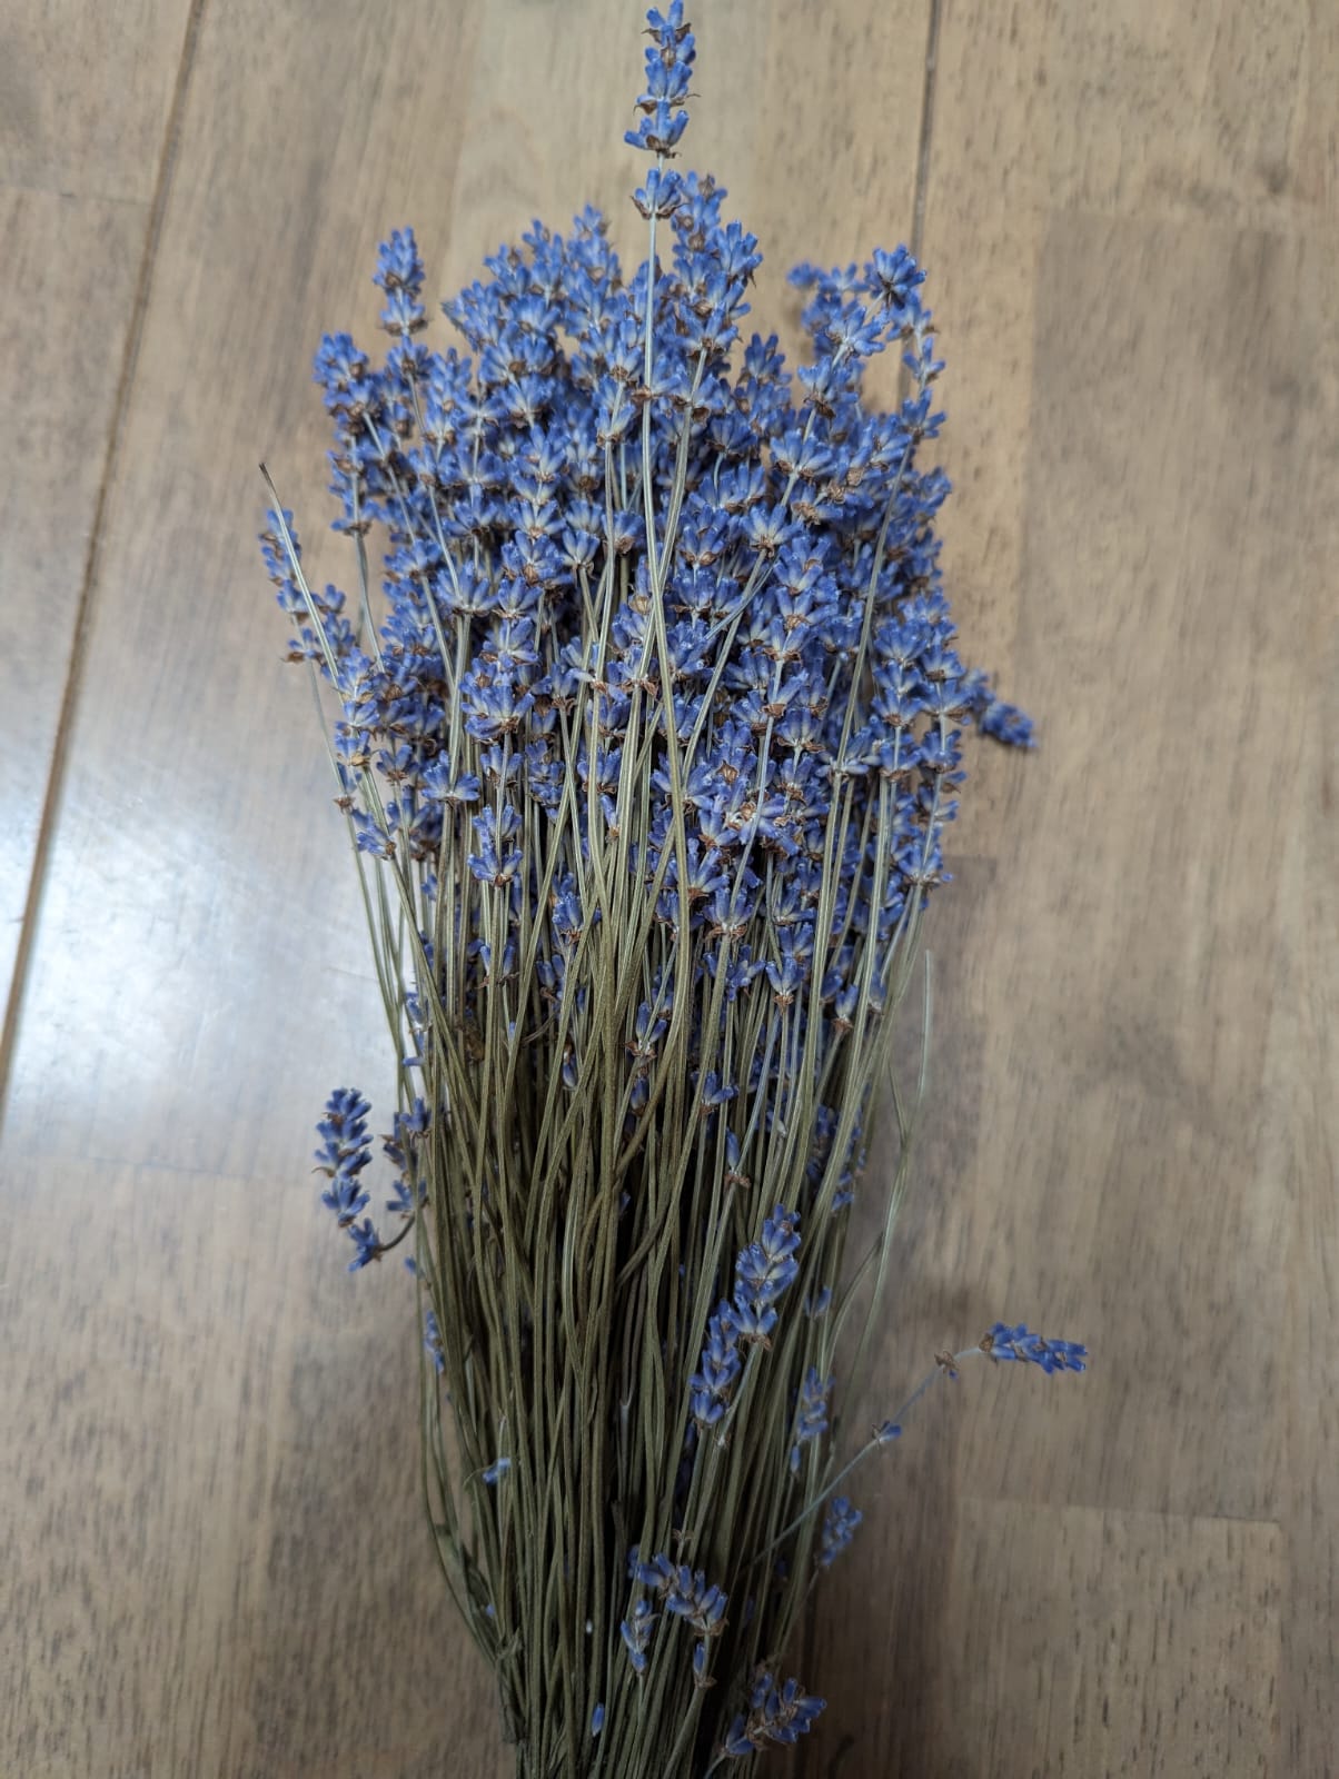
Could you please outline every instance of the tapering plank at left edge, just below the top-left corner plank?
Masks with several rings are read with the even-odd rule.
[[[32,875],[146,205],[0,185],[0,1009]]]

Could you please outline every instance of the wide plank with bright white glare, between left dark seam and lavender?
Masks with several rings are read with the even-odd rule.
[[[329,767],[258,569],[256,463],[303,514],[312,573],[344,576],[308,366],[322,327],[376,334],[377,238],[447,203],[474,28],[467,9],[443,37],[420,5],[386,34],[353,0],[321,32],[301,5],[205,16],[11,1078],[16,1151],[267,1174],[306,1151],[312,1108],[377,1030]],[[103,1032],[64,1089],[43,1085],[59,1005]]]

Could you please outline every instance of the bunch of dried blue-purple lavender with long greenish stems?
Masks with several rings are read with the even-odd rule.
[[[801,267],[810,363],[744,343],[757,242],[671,167],[694,46],[680,0],[648,21],[643,265],[593,210],[536,224],[433,350],[394,233],[385,365],[331,334],[315,366],[356,598],[278,502],[264,535],[397,1059],[386,1215],[354,1089],[324,1203],[351,1268],[406,1249],[433,1544],[527,1779],[743,1770],[823,1710],[785,1651],[910,1405],[840,1437],[912,1155],[890,1037],[962,731],[1029,744],[940,591],[924,274]],[[876,1092],[892,1179],[849,1261]],[[1024,1327],[970,1352],[1083,1370]]]

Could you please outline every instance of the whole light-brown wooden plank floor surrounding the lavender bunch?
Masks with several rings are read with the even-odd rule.
[[[694,11],[693,7],[689,11]],[[495,1779],[408,1299],[306,1174],[377,1009],[256,461],[322,327],[588,197],[629,0],[16,0],[0,73],[0,1774]],[[1332,0],[698,0],[686,142],[783,267],[913,231],[979,758],[933,1135],[803,1779],[1339,1774]],[[785,1772],[783,1763],[775,1763]]]

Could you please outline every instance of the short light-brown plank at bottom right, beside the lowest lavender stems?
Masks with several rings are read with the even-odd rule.
[[[928,1446],[942,1455],[942,1430]],[[921,1500],[937,1464],[912,1468]],[[821,1617],[816,1658],[840,1735],[807,1772],[1321,1772],[1280,1761],[1277,1525],[963,1498],[938,1532],[865,1615],[867,1665],[849,1662],[851,1621]],[[858,1585],[867,1598],[869,1576]]]

